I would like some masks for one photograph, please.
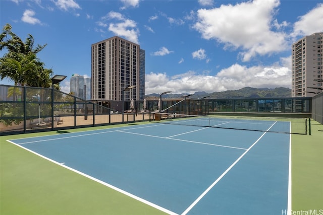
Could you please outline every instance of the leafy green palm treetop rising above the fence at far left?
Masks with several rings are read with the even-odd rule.
[[[0,34],[0,51],[8,50],[0,58],[1,80],[8,78],[15,82],[15,86],[20,83],[23,86],[50,87],[52,70],[44,68],[44,63],[36,56],[46,45],[34,47],[34,38],[30,34],[23,42],[12,32],[11,25],[6,24]]]

